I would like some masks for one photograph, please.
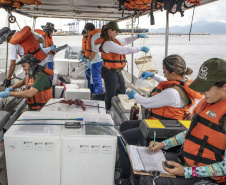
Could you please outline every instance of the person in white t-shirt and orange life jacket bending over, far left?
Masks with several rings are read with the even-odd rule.
[[[10,66],[6,79],[4,80],[5,87],[11,85],[11,77],[15,71],[16,60],[26,54],[33,54],[39,60],[44,60],[47,55],[40,48],[39,43],[43,43],[43,39],[31,33],[31,28],[25,26],[21,31],[16,32],[8,27],[3,27],[0,30],[0,44],[9,42],[9,57]]]

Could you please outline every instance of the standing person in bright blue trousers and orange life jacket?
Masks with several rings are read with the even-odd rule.
[[[88,86],[91,90],[91,93],[94,93],[94,96],[96,97],[101,97],[103,96],[103,87],[100,69],[102,67],[103,61],[99,52],[99,46],[94,44],[94,41],[100,38],[100,29],[95,29],[95,25],[92,23],[87,23],[84,29],[88,34],[85,50],[85,58],[88,62],[86,78],[88,80]]]

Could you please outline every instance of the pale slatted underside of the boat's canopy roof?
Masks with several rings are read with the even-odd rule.
[[[120,21],[134,14],[132,11],[119,11],[117,0],[40,0],[41,5],[24,5],[14,12],[29,17],[70,18],[83,20]],[[201,5],[217,1],[203,0]],[[142,14],[147,14],[142,13]]]

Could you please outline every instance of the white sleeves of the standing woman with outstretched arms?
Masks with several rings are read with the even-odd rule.
[[[131,44],[136,39],[138,39],[137,35],[132,37],[127,37],[124,39],[119,39],[119,38],[116,38],[116,39],[122,44],[122,46],[116,44],[113,41],[106,41],[102,46],[102,50],[105,53],[117,53],[121,55],[133,54],[140,51],[140,47],[124,47],[128,44]]]

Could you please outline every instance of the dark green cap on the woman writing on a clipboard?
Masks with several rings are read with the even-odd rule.
[[[196,92],[205,92],[216,82],[222,81],[226,81],[226,61],[211,58],[201,65],[197,78],[189,85],[189,88]]]

